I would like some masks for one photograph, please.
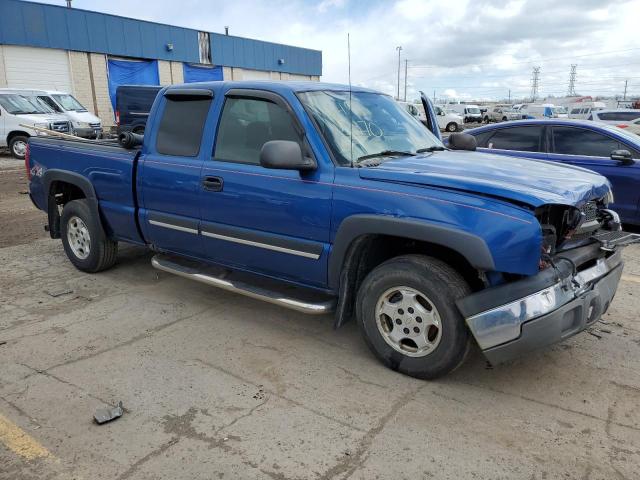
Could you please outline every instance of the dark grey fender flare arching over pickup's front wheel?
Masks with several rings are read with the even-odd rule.
[[[337,291],[345,256],[351,243],[362,235],[390,235],[441,245],[462,255],[478,270],[495,269],[486,242],[469,232],[427,221],[383,215],[352,215],[342,221],[329,258],[329,287]]]

